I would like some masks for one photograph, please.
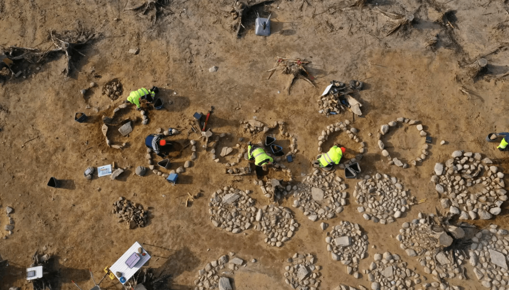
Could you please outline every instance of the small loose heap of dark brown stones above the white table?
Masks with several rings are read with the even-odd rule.
[[[131,230],[136,227],[145,227],[149,219],[149,211],[143,209],[143,205],[133,203],[123,197],[113,203],[111,213],[117,215],[118,222],[126,222]]]

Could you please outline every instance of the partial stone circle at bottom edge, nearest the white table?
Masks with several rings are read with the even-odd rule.
[[[231,252],[231,256],[235,253]],[[253,259],[253,261],[255,261]],[[229,263],[230,262],[230,263]],[[232,290],[231,279],[235,271],[244,264],[244,260],[234,257],[230,260],[230,256],[222,255],[219,259],[208,263],[205,268],[198,271],[194,280],[194,290],[216,289]],[[244,267],[246,264],[244,264]]]

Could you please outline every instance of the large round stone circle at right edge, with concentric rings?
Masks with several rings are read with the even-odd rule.
[[[504,174],[496,166],[490,166],[489,158],[482,159],[480,153],[454,151],[453,158],[435,165],[431,182],[443,199],[440,204],[450,213],[459,214],[460,219],[490,219],[502,211],[507,200]],[[471,192],[469,187],[484,188]]]

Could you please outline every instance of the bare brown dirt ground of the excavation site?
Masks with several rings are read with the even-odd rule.
[[[500,170],[509,172],[507,153],[498,151],[497,143],[485,141],[490,132],[508,131],[509,76],[502,75],[509,71],[509,4],[503,0],[369,0],[364,6],[347,7],[351,3],[267,3],[259,12],[262,16],[271,13],[271,35],[254,34],[251,14],[237,38],[231,28],[233,1],[170,1],[154,23],[152,12],[139,15],[124,10],[136,6],[135,0],[0,0],[0,44],[4,47],[37,46],[44,51],[51,47],[50,29],[92,29],[101,34],[80,50],[84,56],[73,54],[67,79],[61,73],[66,58],[60,54],[41,63],[17,61],[13,71],[22,73],[18,77],[4,74],[0,80],[0,183],[4,184],[0,226],[2,236],[8,236],[0,239],[0,255],[10,264],[0,275],[0,290],[32,288],[24,279],[24,268],[32,263],[36,250],[54,257],[55,269],[60,272],[56,289],[75,288],[71,280],[82,288],[92,287],[88,269],[96,280],[101,278],[102,269],[111,266],[135,241],[145,243],[153,255],[147,267],[172,275],[170,289],[194,289],[197,271],[230,251],[247,261],[258,260],[239,269],[234,289],[290,289],[282,274],[286,259],[295,252],[317,256],[317,264],[323,267],[322,290],[340,283],[370,288],[365,275],[355,279],[346,274],[344,265],[332,261],[326,250],[327,230],[322,231],[320,222],[310,221],[301,211],[294,211],[298,231],[279,248],[267,246],[261,232],[243,235],[214,228],[208,203],[211,194],[224,186],[254,191],[250,196],[257,205],[268,205],[271,200],[253,184],[256,175],[225,174],[223,160],[212,160],[210,148],[202,148],[201,136],[189,125],[194,112],[206,113],[214,106],[210,130],[230,133],[230,141],[224,143],[229,146],[243,137],[240,143],[245,148],[247,141],[259,142],[263,135],[245,133],[241,121],[253,117],[270,125],[284,121],[286,130],[298,140],[295,161],[285,163],[292,170],[292,184],[298,185],[301,174],[314,171],[310,162],[318,153],[321,131],[330,123],[352,121],[349,112],[329,117],[319,114],[317,100],[331,80],[348,83],[351,79],[365,83],[357,95],[365,118],[353,118],[359,137],[367,143],[367,153],[360,160],[362,173],[395,176],[417,200],[428,200],[412,206],[397,222],[373,223],[356,210],[352,192],[358,179],[347,180],[348,205],[326,222],[332,226],[348,220],[361,225],[370,247],[369,257],[360,261],[359,269],[367,269],[376,252],[391,251],[426,276],[392,237],[398,235],[404,221],[411,221],[419,212],[435,213],[437,208],[445,213],[435,185],[430,183],[435,163],[445,162],[455,150],[465,150],[483,153]],[[395,23],[379,10],[414,14],[415,19],[387,36]],[[435,21],[446,10],[453,11],[448,23]],[[435,35],[438,41],[427,47]],[[131,54],[129,49],[139,49],[139,53]],[[298,79],[288,95],[288,75],[275,72],[268,79],[267,70],[274,67],[277,56],[312,61],[308,68],[317,88]],[[482,56],[488,60],[488,70],[472,79],[466,74],[466,65]],[[217,72],[209,73],[213,66]],[[115,101],[102,93],[113,79],[124,86]],[[89,88],[91,82],[97,86]],[[111,116],[130,91],[153,85],[160,88],[164,109],[148,109],[148,125],[142,125],[133,106],[124,109],[116,120],[133,119],[133,132],[127,137],[115,135],[113,126],[108,138],[115,144],[126,143],[126,147],[108,147],[101,133],[102,116]],[[462,87],[470,95],[461,92]],[[87,92],[82,95],[81,89]],[[87,122],[74,121],[76,112],[89,116]],[[417,167],[390,166],[378,149],[380,125],[398,117],[420,120],[433,138],[427,160]],[[137,166],[148,166],[144,140],[160,127],[179,128],[181,134],[167,140],[181,147],[188,144],[187,139],[199,142],[194,166],[179,177],[176,186],[151,171],[144,177],[134,174]],[[424,139],[414,130],[409,127],[384,136],[391,156],[409,162],[420,154]],[[345,157],[354,157],[358,144],[342,138],[345,135],[339,135],[337,142],[347,145]],[[441,140],[446,144],[440,145]],[[182,166],[190,155],[190,146],[184,148],[169,170]],[[112,162],[125,168],[117,180],[98,178],[97,172],[92,180],[83,178],[87,167]],[[246,165],[242,159],[241,166]],[[341,170],[336,174],[344,177]],[[62,182],[61,188],[46,185],[52,176]],[[272,171],[265,178],[274,176]],[[185,198],[179,198],[186,192],[203,195],[186,208]],[[121,196],[150,210],[146,227],[129,230],[117,222],[111,204]],[[280,201],[294,210],[292,204],[290,196]],[[14,208],[12,235],[3,230],[8,222],[6,206]],[[502,207],[496,218],[472,223],[479,228],[490,223],[508,228],[506,204]],[[472,267],[466,268],[470,279],[449,282],[465,289],[480,288]],[[106,278],[101,287],[121,289],[121,284]]]

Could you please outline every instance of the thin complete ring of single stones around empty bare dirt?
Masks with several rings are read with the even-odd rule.
[[[390,157],[389,152],[384,149],[385,145],[383,144],[383,141],[382,141],[382,136],[389,132],[389,128],[396,127],[398,125],[398,123],[401,123],[402,125],[403,124],[416,125],[417,131],[419,131],[420,137],[426,137],[428,135],[428,133],[426,133],[426,131],[422,130],[422,125],[418,124],[419,123],[418,120],[410,120],[410,119],[403,118],[403,117],[400,117],[400,118],[396,119],[395,121],[391,121],[388,124],[384,124],[384,125],[380,126],[380,134],[378,134],[378,139],[379,139],[378,140],[378,148],[380,148],[382,155],[389,159],[389,165],[396,165],[398,167],[402,167],[403,169],[406,169],[409,167],[408,164],[403,163],[398,158]],[[411,164],[413,166],[416,166],[417,162],[423,162],[424,160],[426,160],[426,156],[428,156],[428,154],[429,154],[428,149],[429,149],[428,144],[423,144],[421,154],[418,155],[417,157],[415,157],[415,160],[412,160]]]

